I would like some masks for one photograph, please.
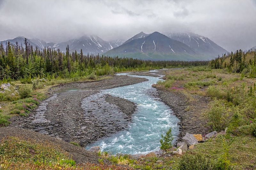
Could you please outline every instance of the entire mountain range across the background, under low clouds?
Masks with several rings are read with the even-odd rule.
[[[82,36],[65,42],[54,43],[34,38],[27,39],[30,46],[39,49],[52,48],[65,52],[67,46],[72,52],[83,51],[84,54],[100,54],[108,56],[132,57],[144,60],[210,60],[218,55],[228,54],[209,38],[195,33],[159,33],[146,34],[140,32],[127,41],[105,41],[96,35]],[[19,36],[11,40],[1,41],[5,47],[7,42],[25,46],[25,37]],[[17,43],[16,43],[17,42]]]

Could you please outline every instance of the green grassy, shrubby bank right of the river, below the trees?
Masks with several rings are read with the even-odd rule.
[[[196,145],[195,149],[185,153],[187,156],[172,159],[176,160],[174,166],[176,165],[177,169],[180,169],[180,164],[185,165],[185,162],[188,162],[188,165],[200,162],[201,156],[213,162],[225,162],[225,165],[234,169],[256,168],[255,78],[230,73],[226,69],[208,67],[170,70],[164,78],[166,81],[159,81],[154,86],[185,94],[189,101],[188,105],[198,96],[211,99],[205,106],[205,111],[195,113],[200,115],[197,119],[206,122],[207,128],[217,132],[228,128],[226,135],[222,133],[212,140]],[[206,165],[206,162],[204,163]]]

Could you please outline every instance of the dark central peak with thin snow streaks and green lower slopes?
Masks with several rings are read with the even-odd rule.
[[[138,37],[135,39],[134,37]],[[145,36],[145,37],[144,37]],[[104,55],[133,57],[151,60],[203,60],[204,56],[196,52],[186,44],[173,40],[164,34],[154,32],[145,34],[143,32],[135,35],[124,42],[121,46],[113,48]]]

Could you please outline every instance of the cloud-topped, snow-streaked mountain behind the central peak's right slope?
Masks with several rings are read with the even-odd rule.
[[[202,35],[195,33],[168,33],[166,35],[171,39],[183,42],[204,55],[217,57],[218,55],[228,53],[227,50]]]

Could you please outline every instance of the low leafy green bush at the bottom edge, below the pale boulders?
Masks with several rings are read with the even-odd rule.
[[[178,170],[215,170],[217,161],[202,155],[185,154],[181,157]]]

